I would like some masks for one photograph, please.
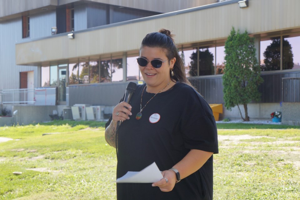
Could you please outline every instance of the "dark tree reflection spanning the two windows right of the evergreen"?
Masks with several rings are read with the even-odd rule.
[[[285,39],[282,40],[282,49],[282,69],[292,69],[294,67],[292,46]],[[261,65],[262,71],[280,70],[280,38],[272,39],[263,56],[265,59],[264,65]]]

